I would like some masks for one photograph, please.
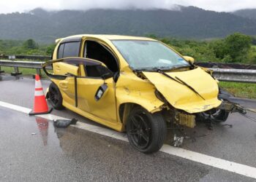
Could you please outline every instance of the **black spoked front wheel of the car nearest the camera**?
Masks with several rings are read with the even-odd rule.
[[[135,107],[127,118],[129,143],[146,154],[159,151],[165,141],[166,123],[162,114],[150,114],[146,109]]]

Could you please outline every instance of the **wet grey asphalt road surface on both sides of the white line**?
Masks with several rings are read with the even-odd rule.
[[[50,82],[42,81],[46,88]],[[31,108],[34,80],[2,76],[0,100]],[[256,108],[255,101],[240,100]],[[53,111],[93,124],[72,111]],[[182,148],[256,167],[256,123],[232,114],[206,130],[198,124]],[[0,181],[255,181],[169,154],[141,154],[129,143],[0,107]],[[36,135],[31,135],[35,133]],[[169,134],[170,135],[170,134]]]

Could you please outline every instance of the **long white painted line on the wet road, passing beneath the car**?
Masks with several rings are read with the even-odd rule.
[[[25,114],[29,114],[31,111],[30,108],[24,108],[21,106],[16,106],[11,103],[5,103],[0,101],[0,106],[4,108],[10,108],[15,111],[20,111]],[[45,114],[45,115],[39,115],[42,118],[49,119],[49,120],[55,120],[55,119],[66,119],[61,116],[55,116],[53,114]],[[94,126],[92,124],[86,124],[83,122],[78,122],[76,125],[71,125],[72,127],[78,127],[83,130],[88,130],[90,132],[95,132],[101,135],[106,135],[111,138],[116,138],[121,141],[128,141],[126,135],[123,132],[116,132],[104,127],[98,127]],[[206,154],[200,154],[195,151],[189,151],[186,149],[176,148],[173,146],[169,146],[164,144],[162,146],[162,149],[160,151],[165,152],[167,154],[174,155],[176,157],[181,157],[184,159],[189,159],[194,162],[199,162],[203,165],[208,165],[211,167],[217,167],[222,170],[227,170],[232,173],[237,173],[239,175],[244,175],[250,178],[256,178],[256,168],[250,167],[248,165],[242,165],[236,162],[230,162],[225,159],[219,159],[217,157],[211,157]]]

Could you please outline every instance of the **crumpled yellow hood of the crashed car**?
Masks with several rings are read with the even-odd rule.
[[[203,71],[195,68],[189,71],[165,72],[174,79],[178,77],[196,90],[200,95],[184,84],[178,83],[158,72],[143,71],[146,78],[154,84],[159,92],[174,108],[178,108],[188,113],[198,113],[208,111],[218,107],[222,102],[218,100],[219,87],[217,81]]]

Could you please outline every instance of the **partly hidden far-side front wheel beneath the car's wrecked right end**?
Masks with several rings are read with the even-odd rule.
[[[229,114],[230,112],[228,111],[213,108],[210,111],[205,111],[198,114],[198,117],[199,117],[198,120],[200,121],[205,120],[211,115],[211,118],[214,119],[214,122],[225,122]]]

